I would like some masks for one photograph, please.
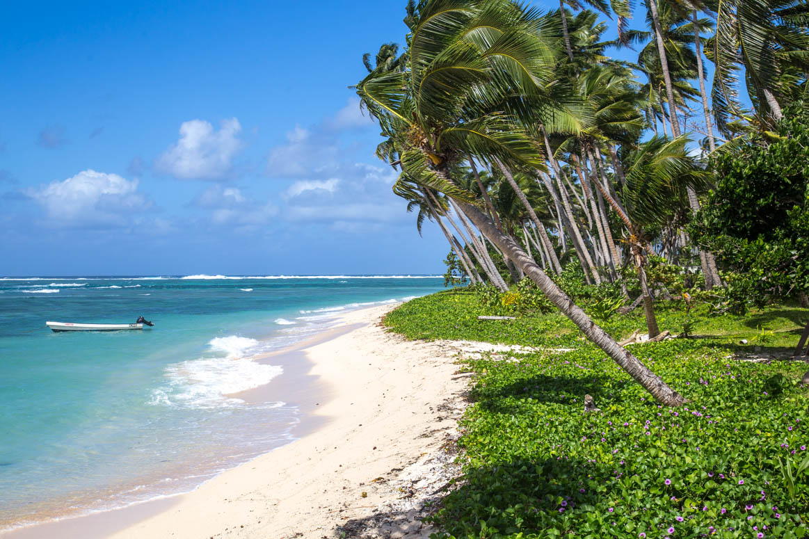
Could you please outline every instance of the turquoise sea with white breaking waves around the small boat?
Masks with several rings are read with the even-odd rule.
[[[410,276],[0,278],[0,529],[190,490],[285,444],[298,410],[230,397],[284,376],[252,357],[327,329],[346,309],[442,285]],[[155,327],[44,325],[138,315]]]

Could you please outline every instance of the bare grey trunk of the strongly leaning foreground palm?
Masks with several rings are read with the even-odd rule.
[[[685,403],[684,397],[673,389],[669,388],[659,376],[650,371],[646,365],[641,363],[633,354],[619,345],[615,339],[595,324],[587,313],[570,299],[555,282],[544,274],[540,266],[515,243],[509,236],[498,230],[491,219],[487,217],[477,207],[465,202],[457,204],[468,215],[472,223],[483,232],[494,244],[497,244],[503,253],[507,253],[511,260],[515,261],[525,274],[531,278],[548,299],[557,306],[571,321],[582,330],[587,338],[594,342],[601,350],[604,350],[629,376],[632,376],[638,384],[641,384],[655,399],[667,406],[679,406]]]

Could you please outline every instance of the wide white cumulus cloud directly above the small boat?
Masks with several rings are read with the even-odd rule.
[[[138,180],[90,169],[25,194],[43,207],[51,224],[62,227],[124,227],[133,214],[154,210],[138,192]]]

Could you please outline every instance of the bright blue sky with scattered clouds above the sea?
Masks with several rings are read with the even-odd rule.
[[[6,5],[0,274],[443,273],[446,240],[418,236],[348,89],[403,16],[404,0]]]

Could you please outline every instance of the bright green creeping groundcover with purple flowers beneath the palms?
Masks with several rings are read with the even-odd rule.
[[[689,399],[678,409],[651,401],[560,315],[502,323],[481,314],[475,295],[451,291],[386,319],[412,338],[538,348],[468,362],[464,480],[434,517],[447,535],[809,537],[809,477],[794,475],[809,460],[809,390],[795,385],[809,365],[732,357],[754,346],[791,351],[807,311],[708,318],[697,309],[702,337],[633,346]],[[684,316],[682,304],[661,306],[661,329],[679,333]],[[604,327],[621,337],[644,327],[642,313]],[[575,350],[547,350],[557,346]],[[600,413],[583,413],[586,393]]]

